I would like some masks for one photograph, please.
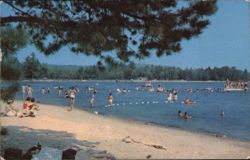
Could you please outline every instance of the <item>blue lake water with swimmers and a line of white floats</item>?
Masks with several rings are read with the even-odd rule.
[[[58,95],[55,86],[69,89],[76,86],[80,92],[76,95],[75,107],[88,112],[98,111],[105,116],[112,116],[143,123],[157,124],[163,127],[174,127],[192,132],[208,133],[240,140],[250,141],[250,92],[208,92],[205,88],[223,89],[223,82],[153,82],[167,89],[193,89],[199,92],[179,92],[178,100],[166,103],[167,93],[148,92],[148,88],[136,90],[142,82],[20,82],[19,85],[31,85],[33,97],[44,104],[69,106],[69,99]],[[50,87],[50,93],[42,94],[42,88]],[[95,104],[89,106],[92,92],[87,87],[95,87]],[[116,89],[128,89],[130,92],[118,93]],[[107,107],[109,93],[114,97],[114,106]],[[195,104],[185,105],[183,100],[189,98]],[[22,99],[21,91],[16,99]],[[191,120],[177,116],[178,110],[188,112]],[[221,117],[220,112],[225,116]]]

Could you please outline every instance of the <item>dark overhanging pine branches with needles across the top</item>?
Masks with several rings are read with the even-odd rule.
[[[170,55],[198,36],[217,10],[216,0],[3,1],[14,10],[1,26],[17,24],[46,55],[67,45],[75,53],[130,61]],[[131,45],[133,47],[131,47]],[[132,49],[133,48],[133,49]],[[101,71],[102,66],[100,66]]]

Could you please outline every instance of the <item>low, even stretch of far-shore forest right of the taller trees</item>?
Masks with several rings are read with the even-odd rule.
[[[75,67],[77,68],[77,66]],[[77,70],[65,70],[49,68],[49,78],[52,79],[140,79],[146,77],[149,80],[244,80],[250,79],[247,70],[239,70],[235,67],[222,68],[198,68],[198,69],[181,69],[177,67],[164,66],[136,66],[134,64],[125,65],[123,63],[117,64],[115,67],[108,66],[102,72],[97,66],[78,67]],[[57,74],[56,74],[57,73]]]

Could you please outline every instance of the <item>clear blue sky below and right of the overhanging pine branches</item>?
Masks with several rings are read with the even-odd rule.
[[[201,35],[182,42],[180,53],[160,58],[152,55],[137,63],[181,68],[235,66],[250,71],[250,3],[218,0],[218,11],[210,22]],[[18,59],[24,61],[31,52],[36,53],[40,62],[48,64],[93,65],[98,61],[93,56],[71,53],[66,47],[46,57],[32,45],[18,51]]]

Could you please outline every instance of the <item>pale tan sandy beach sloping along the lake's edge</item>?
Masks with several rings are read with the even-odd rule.
[[[14,102],[21,109],[22,102]],[[8,135],[1,136],[1,151],[17,147],[26,151],[42,146],[64,149],[78,146],[77,159],[108,153],[116,159],[233,158],[250,156],[250,142],[191,133],[172,128],[105,117],[83,110],[39,104],[36,117],[1,117]],[[3,111],[4,105],[1,106]]]

